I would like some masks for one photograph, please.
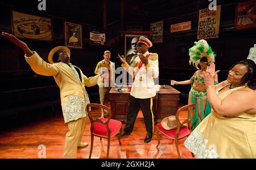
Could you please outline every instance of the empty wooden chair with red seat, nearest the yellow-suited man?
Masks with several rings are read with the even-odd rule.
[[[89,110],[89,107],[91,108],[97,108],[97,109],[105,109],[109,112],[109,118],[93,118],[91,111]],[[104,106],[97,103],[89,103],[86,106],[86,110],[90,119],[90,134],[91,134],[91,145],[90,145],[90,155],[89,158],[92,156],[92,150],[93,150],[93,138],[94,136],[97,136],[99,138],[107,138],[108,139],[108,150],[107,150],[107,158],[109,158],[109,147],[110,147],[110,138],[117,135],[119,132],[122,132],[122,122],[111,119],[111,110]],[[101,112],[100,112],[101,113]],[[119,144],[122,145],[120,140],[121,135],[119,136]]]

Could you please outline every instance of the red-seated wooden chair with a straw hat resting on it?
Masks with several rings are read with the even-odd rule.
[[[191,125],[191,120],[193,118],[193,115],[195,113],[195,104],[190,104],[190,105],[185,105],[183,107],[181,107],[179,110],[177,110],[176,112],[176,122],[177,122],[177,128],[173,128],[171,130],[166,130],[162,127],[161,122],[156,124],[157,127],[157,138],[158,138],[158,144],[156,146],[156,148],[158,148],[159,144],[160,144],[160,137],[159,137],[159,132],[162,132],[162,134],[168,136],[171,139],[175,140],[175,144],[176,144],[176,150],[177,150],[177,155],[180,158],[180,151],[179,151],[179,140],[182,138],[187,137],[189,134],[191,134],[192,132],[192,125]],[[184,122],[180,122],[180,118],[179,118],[179,114],[181,111],[185,111],[185,110],[189,110],[189,118],[185,119]],[[192,156],[194,157],[194,154],[191,152]]]

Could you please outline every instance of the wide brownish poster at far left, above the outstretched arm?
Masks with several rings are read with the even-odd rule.
[[[11,26],[17,38],[52,41],[49,18],[12,11]]]

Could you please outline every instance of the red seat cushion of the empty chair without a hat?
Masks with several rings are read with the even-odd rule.
[[[101,118],[101,121],[106,122],[106,121],[108,121],[108,119]],[[110,137],[113,137],[114,135],[118,134],[121,126],[122,126],[122,123],[120,121],[110,119],[110,121],[109,121]],[[106,125],[104,125],[102,123],[97,123],[97,122],[94,123],[92,133],[94,135],[108,137],[108,131],[106,130]]]

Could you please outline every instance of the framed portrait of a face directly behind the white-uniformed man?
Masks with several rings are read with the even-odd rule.
[[[127,59],[127,57],[129,57],[129,59],[130,59],[133,55],[136,55],[138,53],[137,43],[138,43],[138,40],[139,40],[140,36],[144,36],[144,37],[148,38],[148,35],[145,35],[145,34],[143,34],[143,35],[139,35],[139,34],[126,34],[125,35],[124,56],[125,56],[126,59]]]

